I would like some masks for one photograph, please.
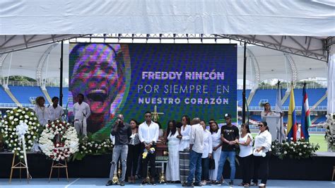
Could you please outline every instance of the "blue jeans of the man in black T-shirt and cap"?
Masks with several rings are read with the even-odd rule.
[[[233,181],[235,179],[235,151],[222,151],[220,160],[218,162],[218,177],[216,178],[217,181],[221,182],[221,175],[223,172],[223,165],[225,165],[225,160],[227,157],[230,160],[230,180]]]

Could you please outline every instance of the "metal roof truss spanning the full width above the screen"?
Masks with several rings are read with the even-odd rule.
[[[130,39],[131,42],[176,42],[184,40],[185,42],[208,42],[220,43],[223,39],[247,42],[252,45],[276,49],[281,52],[296,54],[302,57],[327,61],[327,51],[331,45],[335,44],[334,37],[308,37],[308,36],[272,36],[272,35],[224,35],[224,34],[91,34],[91,35],[1,35],[0,36],[0,54],[18,51],[30,47],[46,45],[50,42],[59,42],[61,40],[70,40],[77,42],[77,39],[85,38],[89,40],[103,39],[116,40],[115,42],[124,42]]]

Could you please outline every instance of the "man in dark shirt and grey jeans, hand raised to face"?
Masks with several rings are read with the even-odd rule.
[[[131,136],[131,127],[129,124],[124,122],[124,117],[122,114],[119,114],[117,116],[117,121],[115,122],[110,134],[115,137],[115,143],[112,155],[112,166],[110,167],[110,180],[108,180],[106,186],[113,184],[112,179],[114,175],[114,170],[120,156],[122,164],[122,177],[119,180],[119,185],[124,186],[124,177],[126,176],[127,170],[128,143],[129,137]]]

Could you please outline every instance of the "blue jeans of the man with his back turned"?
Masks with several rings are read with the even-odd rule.
[[[189,152],[189,177],[187,177],[187,184],[191,185],[195,174],[195,182],[200,184],[201,181],[201,155],[191,150]]]

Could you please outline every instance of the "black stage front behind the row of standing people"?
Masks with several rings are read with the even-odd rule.
[[[0,178],[7,178],[11,172],[12,153],[0,153]],[[83,160],[74,160],[68,163],[69,177],[71,178],[107,178],[110,174],[110,161],[112,154],[87,155]],[[47,160],[40,153],[28,153],[30,175],[33,178],[49,177],[52,160]],[[295,160],[278,159],[271,156],[269,179],[271,180],[319,180],[330,181],[335,166],[335,156],[332,153],[322,153],[318,156]],[[229,163],[225,163],[223,175],[228,178],[230,174]],[[13,178],[19,177],[19,170],[13,172]],[[23,176],[25,172],[23,172]],[[65,177],[61,170],[61,177]],[[52,177],[56,177],[54,172]],[[236,164],[236,178],[241,178],[240,165]]]

